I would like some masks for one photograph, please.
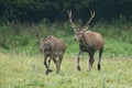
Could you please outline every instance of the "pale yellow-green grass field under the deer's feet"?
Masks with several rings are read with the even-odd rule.
[[[62,70],[45,75],[43,55],[0,53],[0,88],[132,88],[132,58],[102,57],[101,72],[97,70],[97,56],[92,70],[88,59],[80,61],[81,72],[76,69],[76,56],[65,55]]]

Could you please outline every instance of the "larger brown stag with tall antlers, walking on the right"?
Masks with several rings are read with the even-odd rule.
[[[89,54],[89,57],[90,57],[89,58],[89,68],[91,69],[94,62],[95,62],[95,58],[94,58],[95,52],[99,51],[98,70],[100,70],[101,69],[100,61],[101,61],[103,43],[105,43],[103,37],[98,32],[87,31],[91,20],[95,16],[95,11],[90,12],[90,14],[91,14],[90,19],[80,29],[78,29],[72,20],[72,10],[67,11],[67,13],[68,13],[68,18],[69,18],[69,22],[72,24],[72,28],[74,29],[74,32],[75,32],[75,40],[79,42],[77,69],[80,70],[79,61],[80,61],[82,52],[87,52]]]

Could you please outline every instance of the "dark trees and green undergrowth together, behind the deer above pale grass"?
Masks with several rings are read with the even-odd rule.
[[[105,54],[132,55],[132,1],[131,0],[0,0],[0,48],[2,52],[37,54],[38,34],[62,37],[67,54],[76,54],[74,31],[68,22],[82,26],[96,12],[90,29],[100,32],[106,40]],[[69,48],[70,47],[70,48]]]

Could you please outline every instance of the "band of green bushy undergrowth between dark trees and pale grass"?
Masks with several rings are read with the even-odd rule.
[[[118,24],[119,25],[119,24]],[[122,25],[97,23],[92,31],[101,33],[105,37],[105,55],[132,55],[132,35],[130,30]],[[40,37],[47,35],[55,35],[64,40],[67,45],[67,54],[78,53],[78,43],[74,42],[74,31],[68,22],[64,23],[48,23],[43,21],[41,23],[6,23],[0,25],[0,47],[3,50],[14,50],[16,52],[38,53]]]

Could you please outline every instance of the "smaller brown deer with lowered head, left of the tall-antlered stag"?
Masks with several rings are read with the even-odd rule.
[[[50,35],[46,38],[40,38],[40,52],[44,53],[44,65],[46,67],[46,75],[52,72],[52,69],[50,69],[50,64],[52,59],[56,65],[56,73],[59,73],[65,51],[65,43],[56,36]],[[50,57],[48,65],[46,63],[47,57]]]

